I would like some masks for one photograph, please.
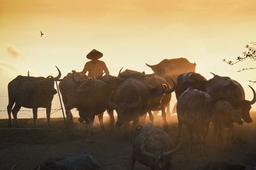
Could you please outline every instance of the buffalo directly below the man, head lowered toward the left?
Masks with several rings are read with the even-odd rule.
[[[77,108],[79,116],[87,122],[88,142],[92,142],[92,125],[95,115],[102,114],[108,108],[109,89],[101,80],[90,78],[77,90],[67,93],[67,110]]]

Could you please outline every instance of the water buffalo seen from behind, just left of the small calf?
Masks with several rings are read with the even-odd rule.
[[[212,98],[209,94],[189,87],[177,101],[177,117],[179,121],[179,138],[182,124],[188,127],[190,135],[189,153],[193,147],[193,138],[205,153],[204,138],[207,135],[209,123],[214,116]]]

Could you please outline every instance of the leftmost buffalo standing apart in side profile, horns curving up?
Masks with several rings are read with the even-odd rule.
[[[58,67],[56,67],[58,69]],[[61,77],[60,69],[58,76],[33,77],[33,76],[17,76],[8,84],[8,99],[7,106],[9,127],[12,127],[12,117],[14,118],[14,126],[18,126],[17,113],[21,107],[33,109],[33,122],[36,127],[37,110],[38,108],[46,108],[47,122],[49,127],[51,105],[54,94],[57,91],[54,89],[54,81]],[[14,108],[13,104],[15,104]]]

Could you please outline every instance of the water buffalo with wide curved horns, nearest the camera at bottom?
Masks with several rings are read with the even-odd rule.
[[[170,136],[151,124],[136,127],[132,141],[131,169],[136,160],[151,169],[170,169],[172,155],[180,147],[173,148]]]

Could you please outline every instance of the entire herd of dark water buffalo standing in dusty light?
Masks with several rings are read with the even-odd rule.
[[[228,134],[228,149],[232,150],[234,124],[250,123],[250,109],[256,101],[255,90],[252,101],[245,99],[244,89],[239,82],[227,76],[214,73],[213,78],[207,80],[199,73],[195,73],[195,63],[187,59],[164,59],[159,64],[149,65],[153,74],[145,74],[126,69],[120,70],[118,76],[102,74],[97,78],[86,75],[68,73],[62,78],[58,69],[58,76],[32,77],[17,76],[8,84],[9,103],[7,106],[9,126],[18,127],[17,113],[21,107],[33,109],[34,126],[36,127],[37,109],[46,108],[49,127],[51,102],[56,90],[54,81],[60,81],[60,92],[65,106],[68,125],[73,123],[70,110],[79,111],[79,122],[85,122],[88,132],[88,142],[92,143],[92,125],[97,115],[100,127],[105,131],[103,113],[108,112],[111,131],[124,127],[125,136],[132,131],[132,164],[138,160],[151,169],[170,169],[172,154],[179,149],[180,131],[182,125],[188,127],[189,148],[193,150],[195,143],[200,146],[200,153],[205,154],[205,138],[209,131],[209,124],[214,126],[216,143],[222,140],[225,127],[230,129]],[[170,100],[172,92],[177,97],[177,119],[179,122],[179,137],[177,146],[172,144],[170,136],[154,127],[152,111],[161,110],[163,127],[168,129],[166,115],[170,114]],[[13,107],[13,104],[15,106]],[[117,113],[117,120],[113,111]],[[13,114],[13,122],[11,118]],[[151,124],[143,124],[141,117],[149,115]],[[129,122],[132,121],[132,127]],[[143,123],[142,123],[143,122]]]

